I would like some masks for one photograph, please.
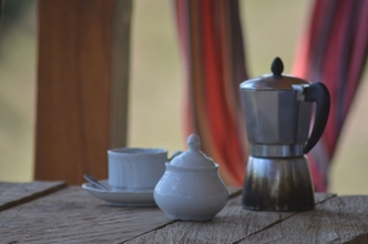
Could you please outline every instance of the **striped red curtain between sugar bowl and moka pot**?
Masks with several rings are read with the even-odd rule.
[[[238,1],[175,0],[175,13],[187,75],[185,136],[198,134],[225,182],[241,185],[247,145],[238,85],[247,75]]]

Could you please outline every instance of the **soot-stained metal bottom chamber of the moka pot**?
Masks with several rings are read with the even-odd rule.
[[[314,186],[307,157],[249,156],[242,204],[253,211],[314,209]]]

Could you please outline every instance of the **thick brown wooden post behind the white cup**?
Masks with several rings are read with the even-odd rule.
[[[35,180],[108,177],[126,145],[131,0],[39,0]]]

